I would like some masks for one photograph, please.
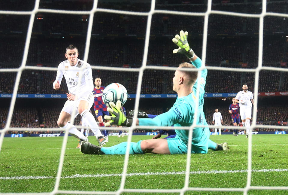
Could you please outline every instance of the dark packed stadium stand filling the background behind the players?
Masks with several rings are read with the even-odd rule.
[[[34,2],[20,4],[5,4],[1,9],[14,11],[31,11]],[[240,0],[213,1],[212,10],[231,11],[238,13],[260,14],[262,12],[262,1],[250,1],[245,3]],[[98,1],[98,8],[109,8],[126,11],[150,11],[148,1],[140,2],[105,2]],[[79,4],[79,5],[78,5]],[[66,1],[40,1],[40,8],[89,11],[92,9],[93,1],[77,2],[73,5]],[[63,6],[61,6],[63,5]],[[64,6],[65,5],[65,6]],[[287,13],[287,1],[267,2],[267,12]],[[193,11],[205,12],[207,5],[203,1],[156,1],[155,9],[171,11]],[[67,17],[69,21],[67,22]],[[85,52],[86,34],[89,16],[67,15],[54,13],[37,13],[32,38],[29,45],[27,66],[57,67],[65,60],[65,48],[74,44],[79,49],[79,58],[83,59]],[[288,61],[288,39],[287,18],[266,16],[264,18],[263,37],[263,64],[262,66],[287,68]],[[18,68],[23,59],[23,51],[26,41],[29,16],[25,15],[0,15],[0,68]],[[148,47],[147,66],[172,66],[177,67],[179,63],[186,61],[181,55],[173,55],[175,45],[171,39],[183,29],[189,32],[189,43],[196,54],[202,56],[202,34],[204,17],[182,16],[169,14],[153,14],[151,21],[150,42]],[[93,76],[102,78],[102,85],[107,86],[112,82],[123,84],[130,94],[136,93],[138,72],[117,72],[100,70],[99,66],[139,68],[142,66],[144,53],[144,38],[146,34],[147,17],[129,16],[126,14],[110,14],[96,12],[94,15],[92,36],[89,48],[88,63],[92,65]],[[41,41],[39,41],[41,40]],[[205,62],[207,66],[221,66],[229,68],[256,68],[258,66],[258,44],[259,44],[259,19],[249,17],[225,16],[211,14],[208,22],[208,40]],[[12,93],[16,72],[0,73],[0,93]],[[146,69],[141,83],[142,94],[174,93],[171,79],[174,71],[160,71]],[[35,94],[65,94],[67,87],[65,79],[62,80],[60,90],[53,90],[52,84],[56,77],[53,71],[24,70],[21,75],[17,93]],[[232,72],[208,70],[206,93],[237,93],[241,90],[242,83],[247,83],[249,90],[254,91],[255,74],[251,72]],[[288,73],[280,71],[261,70],[259,73],[258,92],[285,92],[288,91]],[[275,98],[268,101],[270,97],[259,101],[257,123],[286,125],[288,112],[285,106]],[[7,114],[8,102],[1,105],[0,128],[4,128]],[[21,102],[21,100],[19,100]],[[46,103],[38,107],[17,106],[14,109],[11,127],[57,127],[57,118],[63,105],[63,99],[57,100],[61,106],[47,106],[54,100],[44,100]],[[133,102],[134,100],[131,100]],[[142,101],[142,100],[141,100]],[[151,114],[160,114],[166,111],[163,104],[158,106],[144,106],[140,101],[140,110]],[[147,100],[143,100],[147,101]],[[170,100],[162,100],[164,102]],[[205,114],[209,124],[212,124],[212,116],[215,108],[223,114],[225,125],[231,125],[228,106],[231,99],[215,104],[212,99],[205,99]],[[217,100],[219,102],[220,100]],[[230,102],[228,102],[230,101]],[[49,102],[49,103],[47,103]],[[19,104],[17,104],[19,105]],[[31,107],[28,107],[31,106]],[[166,104],[171,106],[170,104]],[[127,105],[127,110],[133,109],[134,104]],[[162,106],[162,107],[161,107]],[[167,106],[167,108],[169,107]],[[76,123],[79,123],[79,117]],[[284,122],[284,123],[283,123]],[[256,129],[273,130],[273,129]]]

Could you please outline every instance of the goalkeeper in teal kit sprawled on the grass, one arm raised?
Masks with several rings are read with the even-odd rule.
[[[172,39],[173,43],[178,46],[173,53],[184,54],[190,60],[190,63],[183,62],[179,65],[174,73],[173,90],[178,97],[173,107],[169,111],[159,114],[155,118],[139,118],[136,121],[137,125],[142,126],[191,126],[194,119],[197,125],[208,126],[203,112],[204,94],[207,69],[201,70],[200,78],[197,78],[197,71],[189,71],[190,68],[201,68],[202,60],[196,56],[194,51],[189,47],[187,42],[188,32],[180,31],[180,35],[175,35]],[[199,100],[196,101],[197,87],[199,86]],[[110,102],[110,107],[107,110],[111,116],[105,116],[105,119],[110,120],[105,123],[105,126],[110,124],[120,126],[131,126],[133,119],[124,116],[121,110],[121,102],[116,105]],[[197,115],[194,116],[196,109]],[[148,139],[137,143],[131,142],[130,154],[156,153],[156,154],[186,154],[188,150],[188,130],[175,129],[176,137],[171,139]],[[210,131],[208,127],[197,127],[193,129],[192,136],[192,153],[206,154],[208,148],[212,150],[227,150],[227,143],[216,144],[209,139]],[[111,147],[99,147],[89,142],[81,143],[81,152],[84,154],[125,154],[127,142]]]

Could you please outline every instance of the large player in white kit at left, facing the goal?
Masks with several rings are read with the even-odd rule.
[[[80,142],[87,141],[88,139],[86,136],[78,131],[74,125],[69,123],[72,112],[74,111],[75,115],[73,117],[75,118],[80,114],[85,118],[86,123],[95,134],[99,145],[101,146],[105,144],[106,140],[100,132],[94,116],[89,112],[94,102],[94,96],[92,93],[94,89],[92,69],[87,62],[78,59],[78,55],[78,49],[74,45],[69,45],[66,48],[65,57],[67,60],[59,64],[56,79],[53,82],[53,89],[59,90],[64,76],[69,91],[69,93],[66,93],[68,100],[62,108],[57,124],[60,128],[69,129],[69,134],[79,139]],[[79,82],[80,84],[78,86]]]

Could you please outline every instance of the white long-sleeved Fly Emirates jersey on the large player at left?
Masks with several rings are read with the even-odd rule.
[[[80,80],[81,74],[82,78]],[[57,81],[61,84],[63,75],[69,93],[78,96],[78,98],[86,96],[94,89],[91,66],[83,60],[77,59],[77,64],[74,66],[71,66],[68,60],[61,62],[58,66],[57,76],[53,83],[53,87]],[[80,84],[77,86],[79,82]]]

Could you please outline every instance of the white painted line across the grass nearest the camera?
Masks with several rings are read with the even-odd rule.
[[[261,169],[261,170],[252,170],[252,172],[285,172],[288,169]],[[190,174],[199,175],[199,174],[215,174],[215,173],[244,173],[247,170],[208,170],[208,171],[191,171]],[[178,171],[178,172],[147,172],[147,173],[128,173],[126,176],[149,176],[149,175],[184,175],[185,171]],[[121,177],[122,173],[113,173],[113,174],[76,174],[71,176],[61,177],[61,179],[68,179],[68,178],[102,178],[102,177]],[[55,179],[54,176],[14,176],[14,177],[0,177],[0,180],[24,180],[24,179]]]

